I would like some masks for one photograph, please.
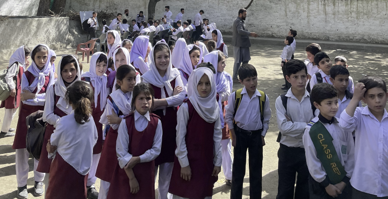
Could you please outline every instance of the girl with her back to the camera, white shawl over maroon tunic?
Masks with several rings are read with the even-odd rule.
[[[55,132],[43,146],[49,157],[54,158],[46,199],[88,198],[87,174],[91,170],[93,146],[98,138],[90,109],[92,100],[93,91],[86,82],[76,81],[66,91],[66,101],[73,111],[56,122]]]

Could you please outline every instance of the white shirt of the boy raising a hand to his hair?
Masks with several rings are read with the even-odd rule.
[[[362,192],[388,196],[388,114],[379,122],[368,106],[357,107],[351,117],[344,110],[339,124],[355,130],[355,166],[351,185]]]

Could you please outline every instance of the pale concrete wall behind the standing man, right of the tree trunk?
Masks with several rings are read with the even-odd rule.
[[[231,33],[239,8],[250,0],[161,0],[155,17],[162,17],[165,5],[173,17],[185,8],[184,19],[203,18],[215,22],[224,33]],[[387,0],[254,0],[245,21],[248,30],[263,37],[285,37],[297,30],[297,39],[388,44]]]

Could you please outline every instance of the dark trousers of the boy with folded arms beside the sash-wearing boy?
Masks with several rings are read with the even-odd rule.
[[[276,198],[294,199],[295,189],[295,199],[309,199],[309,168],[305,150],[280,144],[277,157],[279,158],[277,166],[279,180]]]

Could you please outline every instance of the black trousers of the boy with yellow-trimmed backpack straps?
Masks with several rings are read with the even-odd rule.
[[[263,167],[263,144],[261,133],[248,135],[236,131],[236,147],[233,150],[231,199],[242,198],[242,183],[246,167],[246,151],[249,152],[249,195],[251,199],[261,199],[261,173]]]

